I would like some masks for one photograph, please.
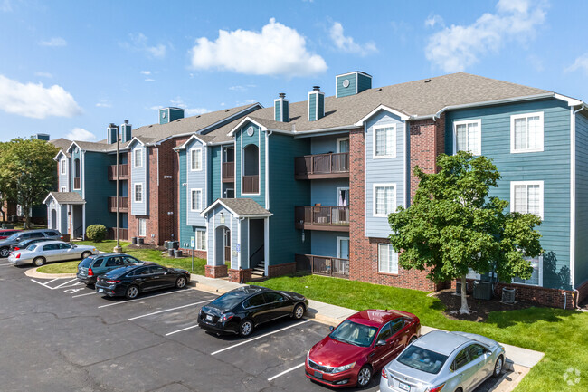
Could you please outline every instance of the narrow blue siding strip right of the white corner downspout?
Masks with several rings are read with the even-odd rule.
[[[588,280],[588,119],[575,116],[575,288]]]

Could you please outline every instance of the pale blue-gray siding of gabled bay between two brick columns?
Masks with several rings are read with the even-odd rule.
[[[396,157],[374,158],[375,128],[396,128]],[[385,238],[391,234],[386,216],[374,216],[374,185],[396,185],[396,206],[405,202],[404,178],[404,123],[394,114],[380,110],[365,124],[365,236]],[[408,175],[408,168],[407,168]]]

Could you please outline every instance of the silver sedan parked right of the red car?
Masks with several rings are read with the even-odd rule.
[[[505,350],[465,332],[433,330],[416,339],[382,369],[382,392],[470,392],[498,377]]]

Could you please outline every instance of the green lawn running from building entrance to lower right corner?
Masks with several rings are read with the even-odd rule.
[[[450,320],[443,303],[427,292],[347,281],[317,275],[290,276],[256,282],[271,289],[299,292],[316,301],[346,308],[398,309],[416,314],[423,325],[442,330],[479,333],[525,349],[545,352],[544,359],[515,389],[517,392],[588,390],[588,313],[552,308],[498,311],[484,322]],[[475,310],[475,307],[473,307]],[[578,385],[563,378],[568,368],[582,373]]]

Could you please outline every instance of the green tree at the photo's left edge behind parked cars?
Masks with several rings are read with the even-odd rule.
[[[59,151],[51,143],[39,139],[13,139],[5,143],[0,154],[0,181],[22,206],[25,225],[31,223],[29,212],[43,203],[53,190],[57,171],[53,158]]]

